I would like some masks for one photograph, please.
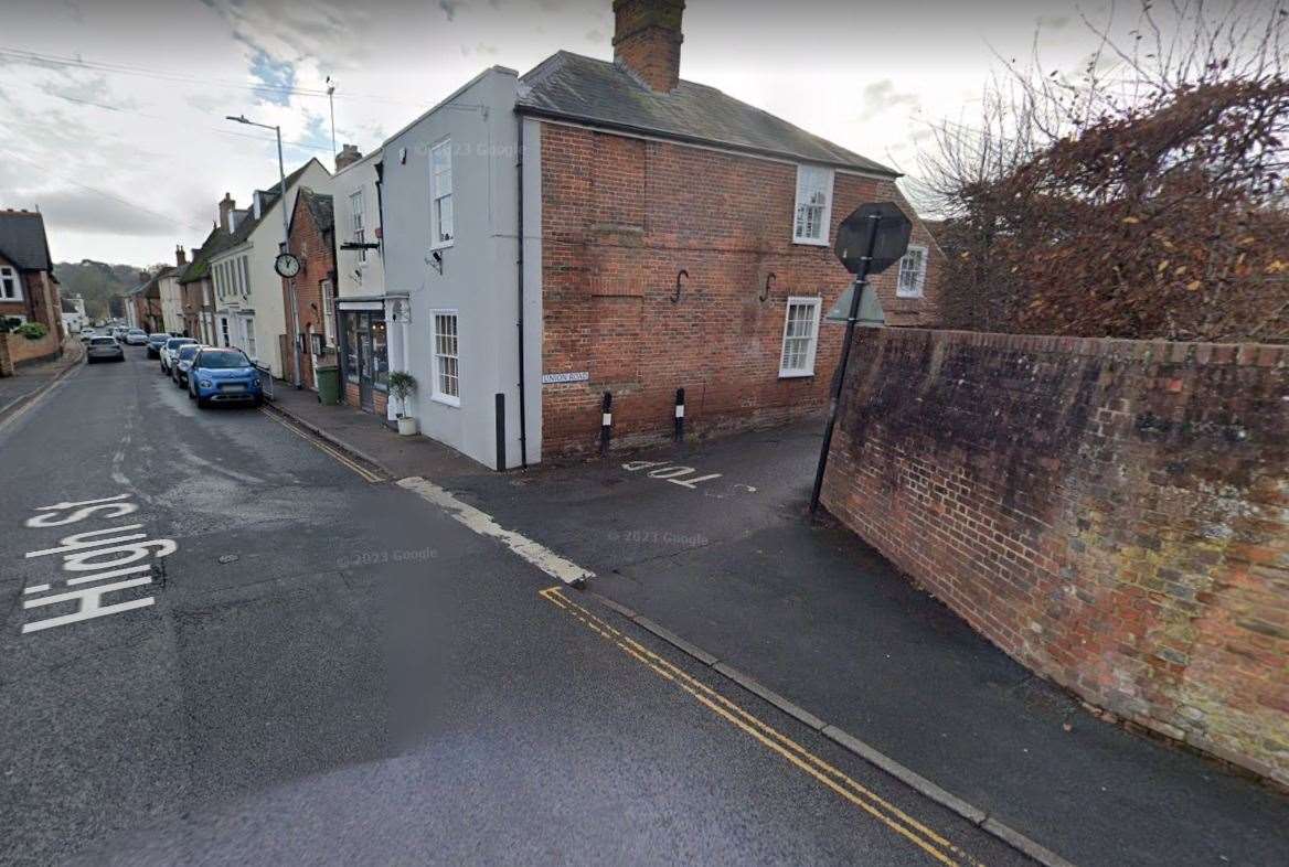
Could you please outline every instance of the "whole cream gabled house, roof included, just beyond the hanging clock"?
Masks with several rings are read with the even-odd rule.
[[[330,176],[316,158],[286,175],[287,214],[300,186],[326,187]],[[278,200],[278,184],[273,184],[268,191],[257,189],[251,206],[238,211],[224,193],[219,222],[232,234],[232,242],[210,258],[210,276],[217,341],[242,349],[280,377],[287,322],[282,278],[273,268],[285,240]]]

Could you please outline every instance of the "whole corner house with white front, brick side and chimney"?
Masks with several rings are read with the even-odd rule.
[[[820,414],[842,340],[822,314],[851,282],[831,243],[862,202],[914,220],[875,280],[888,325],[937,321],[941,254],[898,173],[682,80],[683,9],[616,0],[614,62],[492,67],[384,143],[428,435],[514,466],[593,451],[606,392],[615,447],[668,438],[681,388],[700,435]]]

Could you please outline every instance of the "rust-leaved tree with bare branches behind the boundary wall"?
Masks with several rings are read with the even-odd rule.
[[[1036,54],[941,125],[949,323],[1170,340],[1289,340],[1284,9],[1141,6],[1076,81]],[[1165,35],[1170,33],[1170,35]]]

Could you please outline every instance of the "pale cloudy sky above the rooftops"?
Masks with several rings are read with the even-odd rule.
[[[366,152],[486,66],[525,72],[561,48],[612,57],[611,5],[5,0],[0,206],[39,205],[59,259],[169,260],[204,237],[224,191],[246,201],[277,176],[272,142],[224,115],[281,124],[293,165],[329,162],[331,75],[336,137]],[[1123,28],[1136,9],[1120,6]],[[1109,14],[1102,0],[688,0],[681,73],[915,173],[928,125],[969,121],[994,53],[1027,55],[1040,22],[1044,58],[1079,68],[1096,41],[1079,8]]]

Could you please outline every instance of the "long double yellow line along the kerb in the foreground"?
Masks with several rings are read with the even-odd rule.
[[[611,642],[632,658],[648,666],[655,674],[674,683],[692,696],[699,703],[726,720],[735,728],[758,741],[762,746],[779,754],[793,765],[833,790],[847,801],[860,808],[878,822],[883,823],[905,840],[918,846],[942,864],[969,864],[984,867],[942,835],[932,831],[922,822],[910,817],[895,804],[865,788],[843,772],[828,764],[786,734],[753,716],[717,691],[708,687],[677,666],[672,665],[647,647],[614,629],[610,624],[568,599],[561,587],[548,587],[539,594],[547,602],[558,605],[581,621],[593,633]]]

